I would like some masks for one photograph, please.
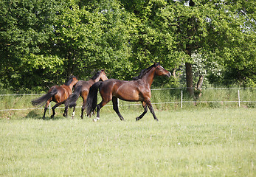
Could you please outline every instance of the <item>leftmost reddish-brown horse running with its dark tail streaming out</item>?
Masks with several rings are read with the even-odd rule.
[[[52,116],[53,118],[55,116],[55,108],[57,108],[59,105],[63,104],[65,100],[69,97],[70,94],[72,94],[72,88],[77,83],[77,77],[72,76],[69,77],[69,80],[64,83],[62,86],[52,86],[47,94],[44,94],[42,97],[39,97],[38,99],[32,100],[32,105],[41,106],[44,105],[44,116],[46,110],[49,106],[49,103],[51,101],[54,101],[56,104],[52,107]]]

